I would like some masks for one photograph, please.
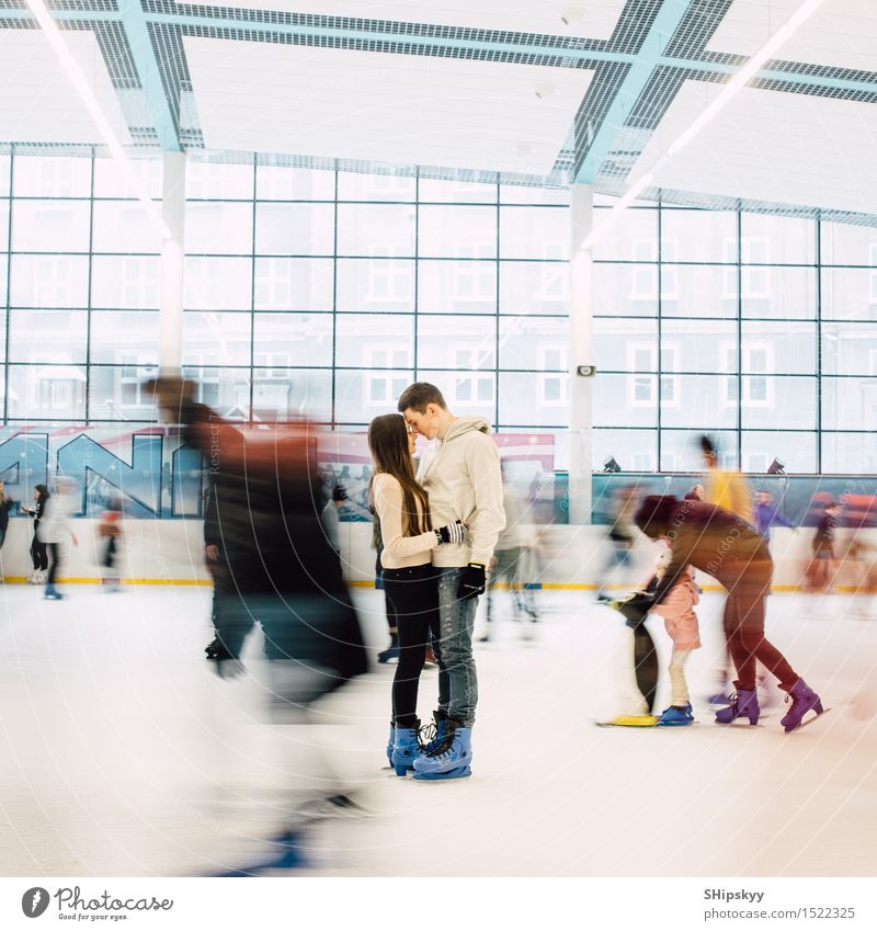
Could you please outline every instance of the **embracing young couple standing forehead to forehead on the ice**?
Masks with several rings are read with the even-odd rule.
[[[368,427],[369,498],[384,538],[384,587],[398,617],[387,758],[415,780],[471,775],[478,703],[472,629],[497,537],[505,526],[500,457],[480,417],[455,417],[434,385],[417,382],[399,413]],[[417,435],[434,441],[414,472]],[[438,662],[438,708],[420,739],[418,685],[426,646]]]

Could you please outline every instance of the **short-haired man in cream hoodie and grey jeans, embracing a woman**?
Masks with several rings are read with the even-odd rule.
[[[399,411],[409,427],[435,442],[420,463],[418,480],[430,496],[433,526],[463,521],[467,542],[436,547],[441,624],[440,665],[447,670],[449,695],[440,696],[436,739],[414,761],[414,779],[470,775],[471,727],[478,703],[472,629],[487,567],[505,526],[500,456],[480,417],[455,417],[435,385],[417,382],[402,391]]]

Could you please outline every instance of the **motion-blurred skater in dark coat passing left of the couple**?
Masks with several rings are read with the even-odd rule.
[[[216,669],[224,678],[243,671],[243,642],[260,624],[272,661],[274,719],[305,724],[314,702],[367,668],[341,564],[320,524],[317,435],[306,422],[244,435],[194,404],[187,383],[160,378],[153,389],[209,472],[206,538],[221,567],[214,576]],[[301,757],[312,742],[292,745]],[[303,787],[308,764],[297,758],[292,765]],[[346,796],[333,794],[337,780],[324,761],[320,767],[322,772],[307,773],[309,783],[321,786],[323,801],[348,807]]]

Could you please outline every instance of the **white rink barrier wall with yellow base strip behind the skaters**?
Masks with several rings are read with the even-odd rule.
[[[79,546],[67,546],[60,578],[68,583],[94,584],[100,580],[102,537],[98,521],[76,519],[73,532]],[[209,586],[210,576],[203,559],[203,523],[166,520],[123,520],[119,546],[119,570],[127,584]],[[375,552],[372,549],[372,526],[368,523],[346,523],[340,527],[341,561],[344,576],[355,588],[372,588],[375,579]],[[839,530],[836,552],[845,553],[853,531]],[[867,547],[867,559],[858,566],[842,567],[835,588],[855,591],[862,579],[870,575],[877,581],[877,530],[855,532]],[[612,544],[601,526],[548,526],[527,529],[525,536],[538,541],[538,555],[526,581],[545,590],[589,591],[602,581]],[[10,521],[5,543],[0,549],[0,574],[10,583],[24,582],[32,571],[30,545],[33,537],[30,521]],[[774,557],[774,591],[796,591],[800,587],[805,566],[810,559],[812,533],[785,527],[773,531],[771,550]],[[656,545],[645,536],[637,541],[630,565],[616,570],[607,580],[614,590],[629,590],[641,584],[650,575],[657,555]],[[718,587],[704,574],[698,574],[707,591]]]

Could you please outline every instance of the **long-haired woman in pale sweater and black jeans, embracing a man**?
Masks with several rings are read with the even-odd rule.
[[[399,665],[392,681],[390,763],[400,776],[413,769],[420,752],[418,685],[430,631],[438,628],[438,588],[432,550],[445,543],[462,543],[465,533],[459,522],[432,529],[426,492],[414,478],[409,429],[398,413],[376,417],[368,425],[368,449],[375,463],[368,495],[384,538],[380,554],[384,589],[399,628]],[[441,691],[442,677],[446,679],[446,673],[441,657],[436,658]]]

